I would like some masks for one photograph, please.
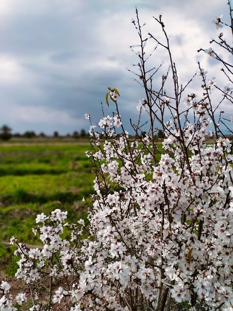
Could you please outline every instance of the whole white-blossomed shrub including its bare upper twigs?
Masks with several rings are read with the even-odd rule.
[[[230,25],[220,17],[214,23],[233,31],[230,3],[229,8]],[[12,239],[20,256],[17,277],[31,289],[30,311],[51,310],[54,304],[71,311],[233,310],[233,156],[224,135],[225,130],[233,134],[233,117],[221,110],[221,104],[233,103],[233,65],[219,56],[218,48],[231,55],[233,49],[223,33],[211,41],[216,49],[200,49],[222,64],[226,85],[208,81],[199,63],[201,96],[189,94],[194,78],[180,85],[162,17],[155,21],[164,42],[152,34],[143,37],[137,12],[133,21],[141,47],[137,75],[145,90],[137,107],[139,121],[132,122],[135,139],[129,139],[121,122],[115,87],[106,94],[113,116],[103,117],[99,130],[90,128],[93,151],[87,155],[96,169],[96,194],[88,237],[82,220],[68,226],[66,212],[55,210],[36,218],[34,233],[42,249]],[[153,79],[159,68],[147,68],[147,40],[164,49],[170,63],[158,90]],[[213,89],[219,92],[217,103]],[[148,114],[147,124],[141,124],[142,113]],[[164,133],[159,158],[158,128]],[[70,228],[67,240],[62,238],[64,225]],[[49,280],[46,303],[36,300],[33,285],[42,276]],[[14,307],[9,284],[2,282],[0,288],[0,310],[26,302],[20,293]]]

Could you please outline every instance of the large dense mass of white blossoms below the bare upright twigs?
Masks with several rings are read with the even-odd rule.
[[[95,180],[98,199],[90,215],[95,239],[86,246],[82,297],[98,295],[100,306],[111,308],[117,289],[122,303],[115,302],[115,310],[127,310],[135,290],[153,308],[161,288],[177,302],[191,304],[196,295],[222,310],[233,299],[231,142],[220,137],[206,144],[208,108],[200,103],[193,109],[199,126],[187,123],[181,143],[170,123],[166,153],[156,165],[149,146],[134,141],[126,149],[124,135],[106,140],[93,154],[102,177]],[[115,285],[108,286],[111,282]]]

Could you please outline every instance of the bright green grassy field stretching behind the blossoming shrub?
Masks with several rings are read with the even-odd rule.
[[[0,144],[0,271],[13,275],[17,268],[12,236],[38,243],[37,214],[60,208],[68,221],[86,219],[94,179],[87,150],[88,142]]]

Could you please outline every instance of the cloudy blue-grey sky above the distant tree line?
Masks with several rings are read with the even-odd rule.
[[[220,15],[229,20],[227,0],[0,0],[0,126],[21,134],[88,131],[84,115],[98,123],[101,102],[105,115],[112,114],[113,106],[105,104],[112,86],[120,92],[121,118],[131,132],[128,120],[137,120],[144,97],[132,73],[138,63],[136,7],[145,35],[161,40],[153,17],[163,16],[182,83],[198,71],[198,61],[210,79],[219,74],[220,65],[197,50],[225,31],[212,21]],[[154,42],[147,44],[152,51]],[[149,61],[163,62],[155,87],[167,70],[163,57],[156,51]],[[196,78],[193,90],[199,86]],[[229,105],[224,110],[231,114]]]

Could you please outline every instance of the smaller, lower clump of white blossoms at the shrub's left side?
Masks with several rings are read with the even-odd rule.
[[[68,225],[66,223],[67,211],[55,209],[49,216],[41,213],[36,217],[37,227],[33,228],[33,233],[39,236],[42,242],[41,247],[29,248],[26,244],[17,241],[16,237],[12,237],[11,244],[16,243],[18,249],[15,255],[19,256],[18,269],[16,277],[23,279],[30,288],[31,299],[33,307],[30,311],[45,310],[45,305],[39,301],[38,286],[42,282],[49,281],[49,295],[52,303],[61,303],[66,301],[67,296],[75,295],[72,289],[72,284],[79,276],[79,251],[80,251],[80,236],[83,234],[84,222],[82,219],[75,225]],[[69,241],[62,238],[64,229],[66,228],[67,234],[69,232]],[[82,260],[82,259],[80,259]],[[76,275],[74,276],[74,271]],[[60,281],[64,280],[67,284],[70,282],[67,290],[59,286]],[[57,290],[52,295],[51,280],[57,284]],[[21,306],[28,301],[25,293],[19,293],[13,299],[8,295],[10,285],[2,281],[0,298],[1,311],[15,311],[17,308],[14,302]],[[40,290],[39,290],[40,292]],[[70,302],[71,304],[71,302]],[[67,303],[67,306],[69,304]]]

